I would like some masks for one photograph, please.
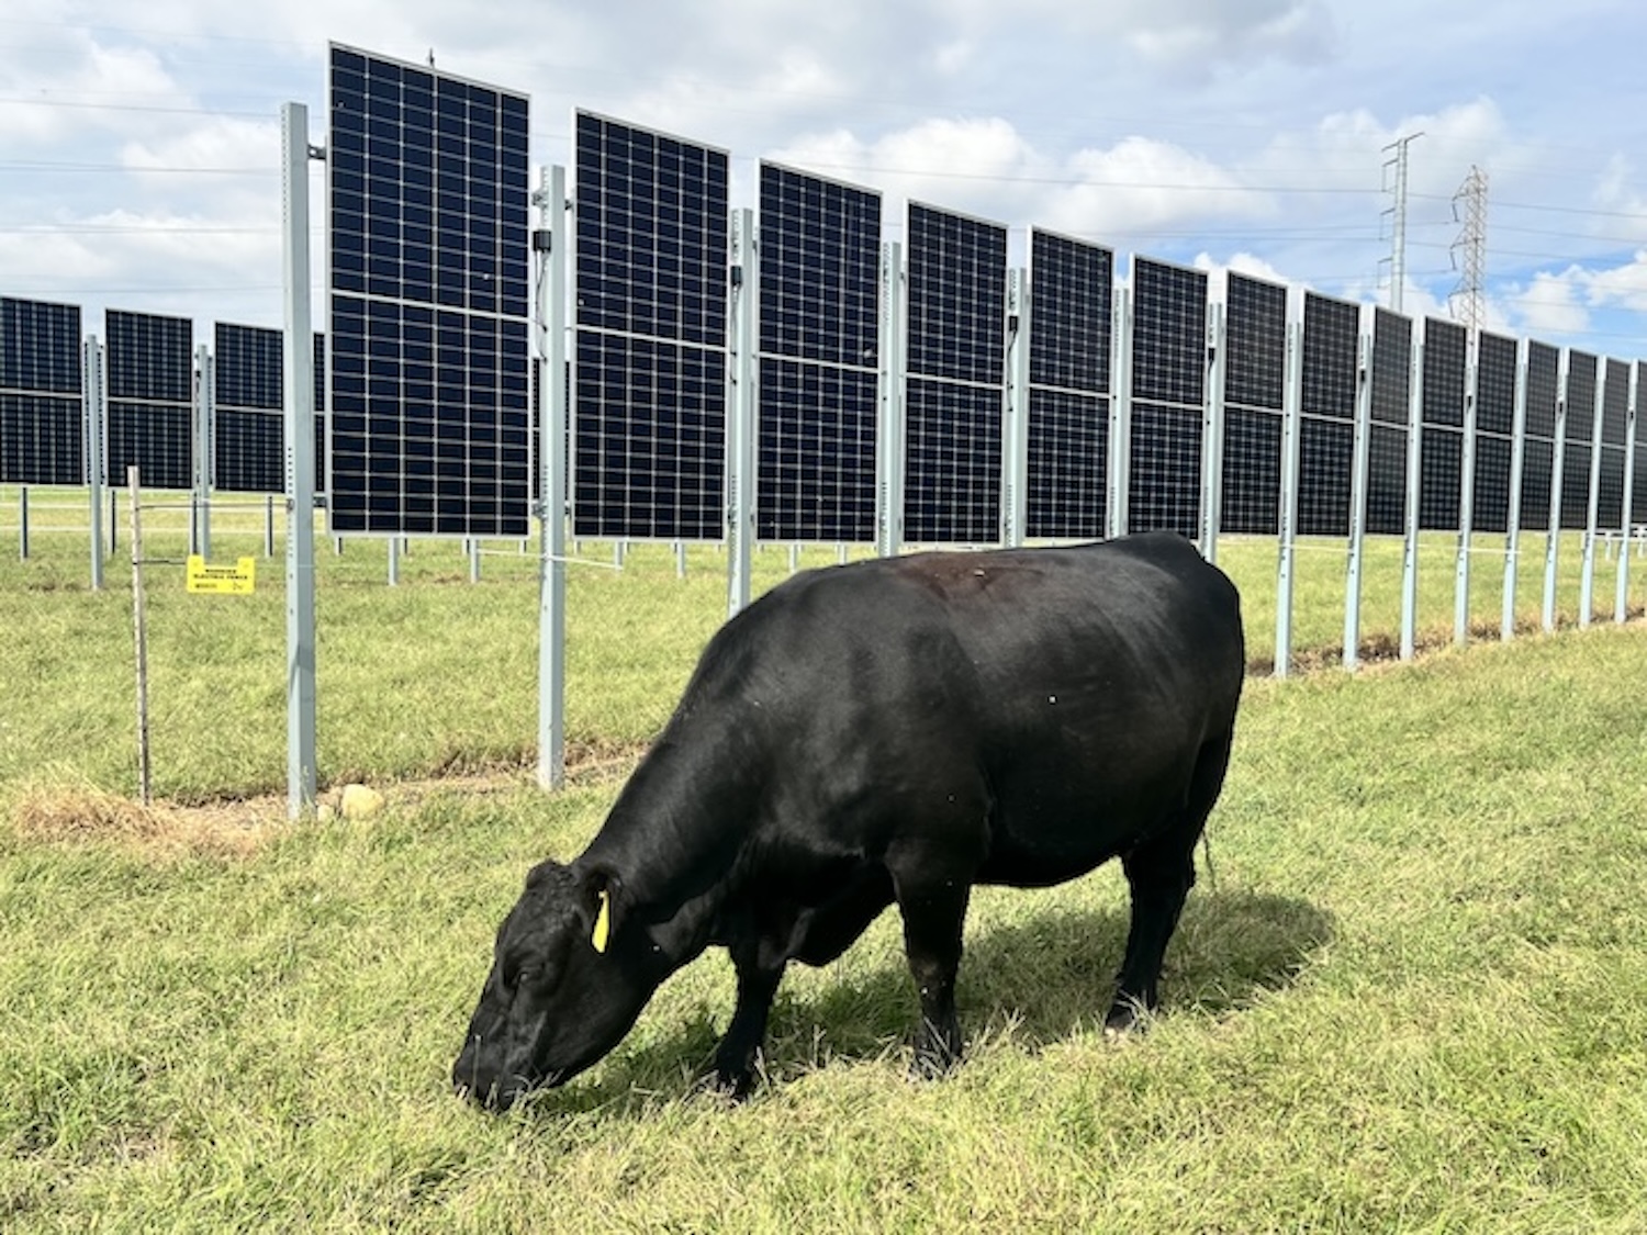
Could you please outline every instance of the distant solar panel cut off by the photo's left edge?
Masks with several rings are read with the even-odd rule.
[[[0,298],[0,484],[84,484],[81,310]]]

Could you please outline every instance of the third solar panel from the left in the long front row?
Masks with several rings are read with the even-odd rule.
[[[761,165],[756,535],[873,540],[881,198]]]

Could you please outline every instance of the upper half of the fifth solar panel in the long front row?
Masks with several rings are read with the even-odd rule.
[[[1115,255],[1095,244],[1034,229],[1029,273],[1034,298],[1029,382],[1107,392]]]

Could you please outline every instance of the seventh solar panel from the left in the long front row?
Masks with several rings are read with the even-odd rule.
[[[1219,530],[1276,535],[1286,288],[1232,270],[1225,280],[1224,347],[1224,512]]]

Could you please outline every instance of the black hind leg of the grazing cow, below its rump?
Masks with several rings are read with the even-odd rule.
[[[1127,1032],[1143,1013],[1159,1003],[1166,945],[1178,927],[1189,889],[1196,884],[1196,841],[1201,840],[1212,804],[1224,787],[1229,754],[1229,734],[1204,744],[1184,805],[1161,832],[1122,858],[1131,886],[1131,929],[1127,934],[1127,957],[1117,980],[1115,1003],[1103,1018],[1108,1032]]]

